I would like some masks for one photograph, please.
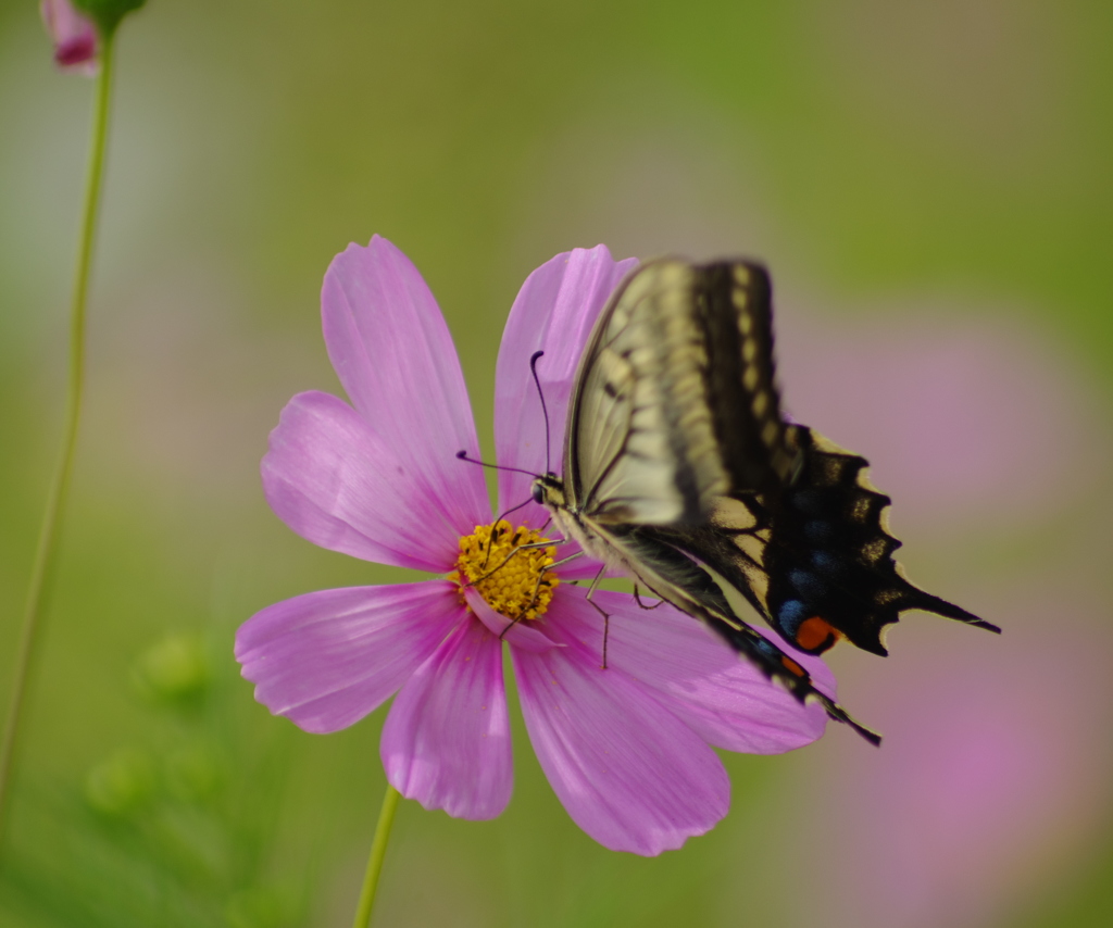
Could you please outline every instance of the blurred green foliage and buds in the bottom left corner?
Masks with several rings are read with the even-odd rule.
[[[214,675],[213,650],[189,633],[145,651],[132,679],[151,713],[148,734],[110,749],[83,782],[30,792],[36,838],[0,879],[11,911],[89,928],[304,924],[306,871],[278,880],[273,867],[282,751],[229,725],[229,700],[242,693],[230,674]]]

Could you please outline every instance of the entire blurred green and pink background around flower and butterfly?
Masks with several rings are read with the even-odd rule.
[[[725,756],[730,816],[653,860],[577,829],[515,717],[509,810],[403,803],[377,925],[1113,924],[1111,38],[1113,6],[1083,0],[150,0],[120,36],[0,920],[351,922],[384,712],[328,737],[272,719],[232,638],[279,599],[405,576],[293,535],[257,475],[283,404],[338,392],[321,279],[378,233],[436,294],[487,448],[532,268],[599,241],[762,257],[789,406],[874,461],[913,574],[1006,633],[915,615],[886,662],[837,651],[880,753],[830,730]],[[90,99],[37,3],[4,0],[2,699]]]

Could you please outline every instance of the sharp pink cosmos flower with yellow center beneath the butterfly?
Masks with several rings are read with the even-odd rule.
[[[526,279],[498,365],[501,464],[530,473],[546,466],[529,368],[539,348],[552,446],[561,447],[584,342],[634,264],[598,246],[558,255]],[[333,261],[322,315],[352,405],[316,392],[290,401],[263,460],[267,500],[324,547],[447,576],[325,590],[257,613],[239,630],[236,658],[259,702],[306,731],[329,732],[397,693],[381,746],[390,782],[426,809],[493,818],[512,782],[505,641],[530,739],[561,802],[600,843],[641,855],[678,848],[726,815],[730,783],[711,746],[776,753],[823,733],[819,707],[801,707],[668,606],[647,611],[629,595],[598,593],[611,616],[603,669],[602,619],[585,589],[565,582],[595,573],[585,557],[546,573],[554,585],[515,624],[506,616],[539,589],[552,549],[529,555],[540,561],[516,555],[495,573],[499,589],[461,586],[461,574],[479,577],[504,555],[474,555],[493,520],[481,470],[456,457],[460,450],[477,455],[477,441],[433,295],[376,236]],[[530,482],[501,472],[500,511],[530,500]],[[519,541],[539,537],[546,522],[532,502],[512,517]],[[504,551],[515,543],[509,535],[500,540]],[[796,659],[834,694],[821,661]]]

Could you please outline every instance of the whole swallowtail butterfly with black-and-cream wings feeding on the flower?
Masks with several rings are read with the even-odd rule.
[[[740,618],[742,602],[814,654],[844,638],[885,654],[885,626],[909,609],[999,629],[904,576],[890,501],[866,480],[866,460],[781,414],[772,344],[762,266],[643,264],[595,322],[569,405],[563,475],[539,476],[533,498],[585,553],[876,744]]]

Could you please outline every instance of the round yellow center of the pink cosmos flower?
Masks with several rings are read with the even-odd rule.
[[[514,529],[506,520],[494,525],[476,525],[460,540],[457,570],[449,574],[463,586],[470,584],[487,604],[508,619],[538,619],[545,614],[560,583],[548,570],[556,554],[554,546],[524,547],[544,542],[541,533],[524,525]],[[463,590],[461,590],[463,602]]]

